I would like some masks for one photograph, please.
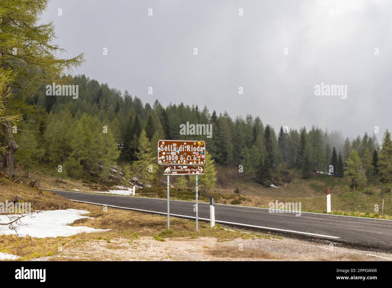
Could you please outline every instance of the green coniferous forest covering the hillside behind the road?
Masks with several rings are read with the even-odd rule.
[[[45,87],[33,97],[14,98],[35,113],[23,115],[15,134],[16,167],[26,176],[38,163],[49,163],[54,169],[62,165],[72,178],[90,174],[107,179],[110,169],[120,166],[129,167],[146,184],[157,185],[157,178],[162,177],[156,173],[158,139],[191,137],[206,141],[211,165],[240,167],[246,179],[267,187],[284,178],[282,164],[297,168],[303,178],[313,172],[347,176],[352,188],[389,183],[392,178],[388,130],[382,145],[374,132],[349,139],[317,126],[284,129],[282,125],[275,131],[258,116],[234,118],[207,105],[144,103],[128,91],[85,75],[75,76],[72,83],[79,86],[78,99],[47,96]],[[212,137],[181,135],[180,125],[186,122],[212,124]],[[149,165],[155,172],[147,171]]]

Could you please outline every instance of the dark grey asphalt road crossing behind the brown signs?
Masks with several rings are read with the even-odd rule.
[[[51,190],[71,200],[167,213],[167,200]],[[194,202],[170,201],[170,215],[195,216]],[[209,221],[209,204],[199,202],[199,219]],[[270,213],[268,209],[215,205],[218,223],[249,226],[261,230],[326,239],[355,246],[392,250],[392,221],[359,217],[332,216],[302,212]]]

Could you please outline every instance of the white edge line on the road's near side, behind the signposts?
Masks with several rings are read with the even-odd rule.
[[[100,205],[100,206],[106,205],[106,204],[93,203],[93,202],[87,202],[87,201],[79,201],[79,200],[73,200],[73,199],[69,199],[69,200],[74,201],[74,202],[94,204],[94,205]],[[121,207],[121,206],[114,206],[114,205],[106,205],[106,206],[113,207],[113,208],[121,208],[121,209],[126,209],[126,210],[135,210],[135,211],[140,211],[140,212],[149,212],[149,213],[154,213],[154,214],[167,215],[167,213],[165,213],[165,212],[143,210],[143,209],[129,208],[129,207]],[[170,214],[170,216],[196,219],[196,217],[193,217],[193,216],[185,216],[185,215],[178,215],[178,214]],[[207,218],[200,218],[199,217],[198,219],[199,220],[203,220],[203,221],[210,221],[210,219],[207,219]],[[263,226],[256,226],[256,225],[248,225],[248,224],[227,222],[227,221],[221,221],[221,220],[215,220],[215,222],[223,223],[223,224],[230,224],[230,225],[237,225],[237,226],[252,227],[252,228],[261,228],[261,229],[274,230],[274,231],[290,232],[290,233],[296,233],[296,234],[306,234],[306,235],[327,237],[327,238],[334,238],[334,239],[340,238],[340,237],[336,237],[336,236],[329,236],[329,235],[323,235],[323,234],[314,234],[314,233],[300,232],[300,231],[294,231],[294,230],[285,230],[285,229],[279,229],[279,228],[271,228],[271,227],[263,227]]]

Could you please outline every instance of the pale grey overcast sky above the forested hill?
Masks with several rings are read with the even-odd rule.
[[[53,0],[42,22],[53,20],[63,56],[85,53],[73,74],[143,103],[207,105],[350,138],[377,125],[381,140],[392,128],[391,10],[387,0]],[[322,82],[347,85],[347,98],[316,96]]]

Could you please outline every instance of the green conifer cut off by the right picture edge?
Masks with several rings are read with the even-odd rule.
[[[391,134],[385,130],[383,138],[383,146],[378,156],[378,174],[380,181],[383,183],[391,183],[392,180],[392,142]]]

